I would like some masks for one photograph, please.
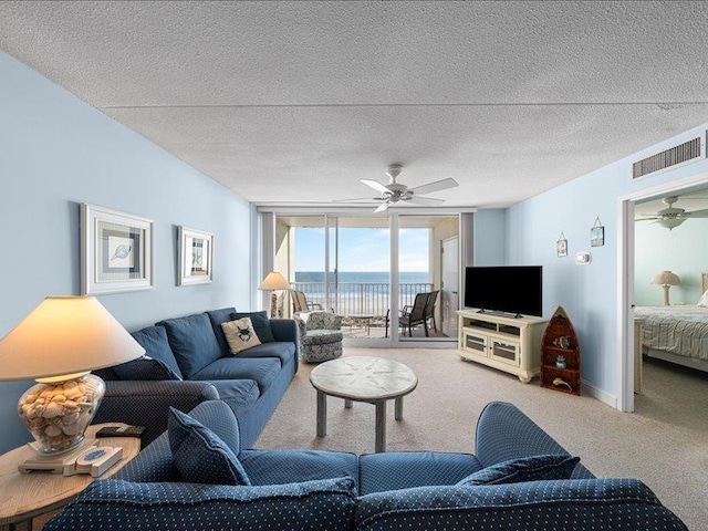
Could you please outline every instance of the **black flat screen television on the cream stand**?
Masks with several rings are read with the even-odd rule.
[[[542,316],[543,267],[466,268],[465,306],[517,316]]]

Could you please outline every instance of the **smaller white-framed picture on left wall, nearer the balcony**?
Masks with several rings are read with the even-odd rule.
[[[214,280],[214,235],[179,227],[177,285],[206,284]]]

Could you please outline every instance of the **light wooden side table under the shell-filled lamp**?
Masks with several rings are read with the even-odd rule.
[[[125,426],[107,423],[90,426],[86,437],[93,437],[104,426]],[[117,472],[140,451],[138,437],[101,438],[98,446],[122,447],[123,458],[102,478]],[[18,466],[34,456],[34,450],[23,445],[0,456],[0,531],[29,531],[32,519],[55,511],[69,503],[95,479],[90,475],[62,476],[61,473],[20,473]]]

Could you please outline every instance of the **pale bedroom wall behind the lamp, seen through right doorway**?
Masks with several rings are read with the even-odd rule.
[[[689,219],[674,230],[647,221],[635,225],[634,302],[638,306],[664,304],[664,289],[652,284],[660,271],[673,271],[680,285],[669,290],[671,304],[696,304],[700,273],[708,271],[708,219]]]

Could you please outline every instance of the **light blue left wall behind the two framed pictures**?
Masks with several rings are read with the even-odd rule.
[[[2,52],[0,80],[0,336],[44,296],[79,294],[84,201],[154,220],[155,289],[98,298],[126,329],[250,308],[247,201]],[[215,235],[214,283],[176,287],[179,225]],[[0,382],[0,452],[29,438],[15,404],[31,384]]]

